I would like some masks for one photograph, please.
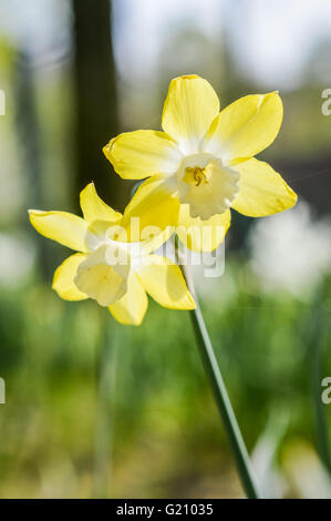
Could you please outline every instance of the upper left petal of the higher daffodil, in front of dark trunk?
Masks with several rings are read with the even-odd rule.
[[[177,144],[164,132],[152,130],[120,134],[103,147],[103,152],[125,180],[173,174],[182,161]]]

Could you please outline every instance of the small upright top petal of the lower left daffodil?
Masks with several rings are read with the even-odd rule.
[[[115,223],[122,218],[120,212],[115,212],[106,205],[97,195],[94,183],[87,184],[81,192],[81,208],[84,219],[89,223],[95,221],[107,221]]]

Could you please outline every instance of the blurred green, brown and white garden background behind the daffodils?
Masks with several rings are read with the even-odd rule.
[[[208,79],[221,104],[279,90],[260,154],[300,203],[234,216],[226,270],[196,284],[267,497],[331,497],[331,3],[328,0],[1,0],[1,498],[242,497],[189,315],[151,302],[139,328],[51,290],[65,248],[27,208],[77,211],[94,181],[123,210],[132,185],[102,154],[158,129],[168,82]]]

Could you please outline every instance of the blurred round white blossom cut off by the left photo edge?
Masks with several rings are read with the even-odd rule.
[[[0,285],[19,286],[31,273],[35,253],[24,235],[0,234]]]

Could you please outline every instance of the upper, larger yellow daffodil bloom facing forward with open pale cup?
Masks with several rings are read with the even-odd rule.
[[[128,205],[133,214],[162,228],[179,225],[180,239],[193,249],[215,249],[230,225],[230,208],[260,217],[296,204],[282,177],[254,157],[273,142],[281,120],[277,92],[247,95],[219,112],[211,85],[185,75],[170,82],[164,132],[120,134],[103,151],[121,177],[149,177]],[[224,232],[201,241],[205,227]]]

